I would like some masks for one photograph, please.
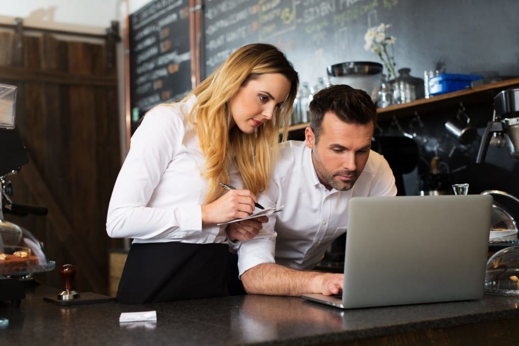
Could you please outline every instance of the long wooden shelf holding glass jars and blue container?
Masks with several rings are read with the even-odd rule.
[[[409,103],[392,105],[387,108],[378,108],[378,120],[384,121],[392,119],[393,117],[409,117],[413,116],[415,112],[420,116],[423,116],[427,113],[458,107],[460,102],[463,102],[463,105],[465,106],[492,102],[498,92],[514,86],[519,86],[519,78],[512,78],[480,85],[470,89],[453,91],[446,94],[432,96],[430,99],[420,99]],[[308,125],[309,123],[292,125],[289,127],[289,131],[304,129]]]

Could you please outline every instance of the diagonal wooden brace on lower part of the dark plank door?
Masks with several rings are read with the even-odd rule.
[[[105,285],[103,283],[106,279],[92,266],[94,263],[91,258],[92,255],[88,253],[84,242],[81,241],[74,232],[74,226],[65,218],[58,202],[52,197],[50,188],[36,167],[34,167],[34,161],[29,159],[29,164],[24,165],[19,174],[22,176],[23,181],[28,186],[32,197],[36,199],[37,203],[45,205],[48,208],[49,213],[46,218],[52,226],[52,231],[57,234],[59,240],[71,250],[69,254],[72,257],[72,264],[80,269],[76,272],[76,275],[84,276],[93,287],[94,292],[104,292]]]

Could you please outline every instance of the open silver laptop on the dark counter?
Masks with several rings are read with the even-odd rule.
[[[489,195],[350,201],[342,295],[304,298],[343,309],[483,296]]]

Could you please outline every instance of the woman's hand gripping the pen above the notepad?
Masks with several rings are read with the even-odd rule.
[[[202,225],[244,218],[254,212],[256,196],[249,190],[229,190],[214,202],[202,205]]]

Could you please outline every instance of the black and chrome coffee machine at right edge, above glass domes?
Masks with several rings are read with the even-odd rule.
[[[519,160],[519,88],[503,90],[494,98],[494,116],[483,133],[476,163],[485,161],[489,144],[506,144],[510,157]]]

